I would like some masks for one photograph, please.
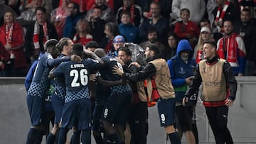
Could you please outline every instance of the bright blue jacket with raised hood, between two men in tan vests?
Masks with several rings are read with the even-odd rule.
[[[183,62],[179,55],[183,50],[189,51],[188,63]],[[167,61],[167,65],[169,66],[176,101],[181,102],[188,87],[185,79],[193,76],[193,70],[196,68],[196,60],[193,59],[193,50],[188,40],[181,40],[178,43],[176,55]]]

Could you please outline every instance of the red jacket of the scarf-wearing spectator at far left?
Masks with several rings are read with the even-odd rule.
[[[0,41],[3,45],[6,45],[6,23],[0,27]],[[14,23],[14,31],[11,40],[11,50],[15,56],[15,68],[26,67],[26,59],[24,55],[24,34],[23,28],[18,24]]]

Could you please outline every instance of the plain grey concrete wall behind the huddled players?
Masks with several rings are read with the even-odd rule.
[[[228,127],[235,143],[256,143],[256,77],[237,77],[237,80],[238,94],[235,104],[229,111]],[[22,77],[0,77],[0,143],[26,143],[30,120],[23,81]],[[213,133],[208,126],[206,112],[201,101],[198,101],[196,112],[200,143],[214,143]],[[156,106],[149,108],[147,140],[149,144],[166,143],[164,128],[159,126]],[[182,141],[186,143],[184,138]],[[92,143],[95,143],[93,138]],[[169,140],[167,143],[170,143]]]

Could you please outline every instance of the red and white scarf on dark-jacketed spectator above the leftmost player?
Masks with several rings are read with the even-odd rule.
[[[40,26],[39,26],[38,21],[36,21],[35,26],[34,26],[34,35],[33,35],[33,43],[34,43],[35,49],[40,48],[39,33],[40,33]],[[47,23],[43,24],[43,33],[44,33],[43,43],[46,43],[46,40],[49,39]]]

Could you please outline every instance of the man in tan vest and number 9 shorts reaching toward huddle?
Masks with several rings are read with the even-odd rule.
[[[139,82],[144,79],[150,82],[152,77],[154,77],[154,83],[156,84],[157,93],[159,94],[159,99],[155,99],[155,101],[157,101],[158,104],[157,107],[161,126],[164,126],[172,144],[180,144],[181,140],[178,138],[178,133],[174,128],[175,94],[174,87],[171,84],[169,67],[166,61],[160,58],[159,50],[156,48],[156,45],[146,47],[144,54],[146,55],[146,61],[148,63],[139,72],[134,74],[124,73],[122,70],[119,70],[118,67],[113,67],[113,72],[122,76],[123,79],[128,79],[132,82]],[[149,85],[150,84],[148,84],[148,86]],[[150,91],[149,87],[147,87],[147,92],[149,96],[151,96],[154,89]]]

